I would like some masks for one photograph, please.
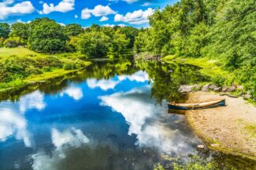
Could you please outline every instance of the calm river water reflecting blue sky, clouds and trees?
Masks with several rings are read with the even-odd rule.
[[[185,99],[179,85],[203,80],[195,67],[95,61],[83,74],[2,95],[0,169],[153,169],[163,156],[186,162],[202,141],[183,115],[168,114],[166,100]]]

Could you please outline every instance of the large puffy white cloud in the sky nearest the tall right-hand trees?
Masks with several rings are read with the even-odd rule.
[[[154,9],[148,8],[143,11],[141,9],[134,11],[133,13],[126,13],[126,15],[116,14],[114,17],[115,22],[124,22],[128,24],[146,24],[148,23],[148,16],[154,13]]]

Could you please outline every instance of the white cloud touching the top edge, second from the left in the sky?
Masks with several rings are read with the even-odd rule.
[[[58,5],[55,5],[53,3],[50,3],[48,5],[47,3],[43,4],[43,10],[39,11],[40,14],[48,14],[52,12],[61,12],[61,13],[67,13],[73,9],[75,6],[75,0],[62,0],[58,3]]]

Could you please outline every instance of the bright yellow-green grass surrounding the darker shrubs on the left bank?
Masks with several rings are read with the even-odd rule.
[[[46,81],[50,78],[58,78],[65,74],[69,74],[71,72],[76,72],[83,67],[87,67],[91,64],[91,62],[83,61],[84,56],[80,53],[58,53],[58,54],[43,54],[39,52],[33,52],[30,49],[26,49],[24,47],[17,48],[0,48],[0,63],[4,63],[6,59],[11,58],[12,56],[19,56],[20,58],[27,57],[36,60],[38,58],[47,59],[49,56],[57,57],[63,63],[74,63],[77,62],[81,64],[80,67],[73,68],[72,70],[64,70],[61,68],[49,68],[48,71],[43,71],[42,74],[31,74],[27,78],[17,78],[13,79],[13,81],[9,82],[1,82],[0,83],[0,92],[4,92],[9,89],[19,89],[24,87],[24,85],[28,85],[33,81]]]

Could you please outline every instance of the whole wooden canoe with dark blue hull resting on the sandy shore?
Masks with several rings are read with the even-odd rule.
[[[211,107],[224,107],[225,99],[218,99],[201,103],[169,103],[169,110],[197,110]]]

